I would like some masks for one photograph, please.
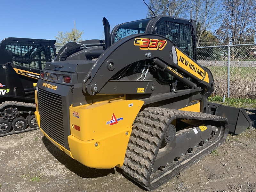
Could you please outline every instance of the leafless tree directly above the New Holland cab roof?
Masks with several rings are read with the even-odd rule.
[[[156,16],[169,15],[172,17],[186,17],[188,12],[189,0],[150,0],[149,7],[155,12]],[[153,13],[148,10],[147,17],[154,17]]]

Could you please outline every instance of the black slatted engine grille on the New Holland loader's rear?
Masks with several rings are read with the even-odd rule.
[[[61,95],[38,89],[41,129],[57,143],[65,146]]]

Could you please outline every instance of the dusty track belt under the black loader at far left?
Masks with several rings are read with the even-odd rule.
[[[36,105],[33,104],[33,103],[25,103],[25,102],[17,102],[17,101],[5,101],[5,102],[2,102],[0,104],[0,111],[1,109],[5,108],[6,106],[15,106],[15,107],[25,107],[27,108],[28,111],[31,111],[32,114],[34,114],[34,112],[36,111]],[[29,115],[29,114],[27,114]],[[1,115],[0,115],[1,117]],[[12,124],[12,121],[10,121],[10,123]],[[35,129],[39,129],[39,127],[27,127],[26,129],[24,130],[21,130],[21,131],[15,131],[13,130],[13,128],[11,129],[10,132],[7,132],[7,133],[4,133],[4,134],[0,134],[0,137],[2,136],[6,136],[6,135],[12,135],[12,134],[16,134],[16,133],[21,133],[21,132],[27,132],[27,131],[31,131],[31,130],[35,130]]]

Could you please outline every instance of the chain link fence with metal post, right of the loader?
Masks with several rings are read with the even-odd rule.
[[[213,95],[256,98],[256,44],[197,47],[197,61],[212,72]]]

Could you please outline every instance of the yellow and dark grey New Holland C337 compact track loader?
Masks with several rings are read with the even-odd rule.
[[[214,80],[196,61],[195,20],[103,25],[105,41],[66,44],[37,83],[39,128],[70,157],[154,190],[252,125],[243,108],[207,102]]]

